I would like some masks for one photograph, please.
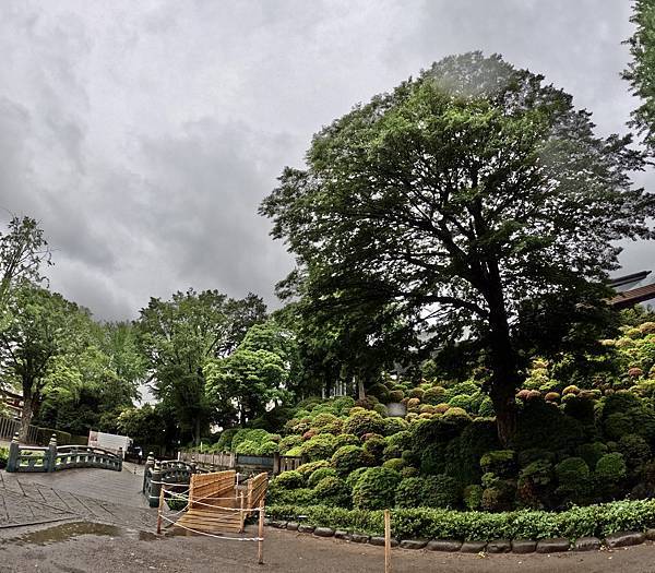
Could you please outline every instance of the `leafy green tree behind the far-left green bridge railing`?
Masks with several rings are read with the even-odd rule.
[[[0,372],[23,392],[21,440],[32,416],[55,387],[73,384],[72,375],[53,374],[58,359],[85,348],[80,333],[88,315],[61,295],[29,284],[11,290],[5,326],[0,331]]]

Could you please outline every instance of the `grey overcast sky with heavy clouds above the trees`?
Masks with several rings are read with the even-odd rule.
[[[2,0],[0,218],[38,218],[51,287],[102,319],[189,286],[274,303],[291,262],[257,207],[321,126],[483,49],[623,131],[630,3]],[[652,252],[629,246],[626,270]]]

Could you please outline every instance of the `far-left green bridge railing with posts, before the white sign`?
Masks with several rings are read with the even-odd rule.
[[[87,445],[57,445],[52,434],[47,447],[21,445],[16,433],[9,445],[7,471],[59,471],[74,467],[122,470],[122,452],[118,454]]]

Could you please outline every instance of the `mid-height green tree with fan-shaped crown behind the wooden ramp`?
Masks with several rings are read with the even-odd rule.
[[[216,290],[176,293],[170,300],[151,299],[138,321],[155,394],[176,413],[180,428],[200,443],[214,421],[204,367],[238,345],[252,321],[260,320],[261,299],[241,303]],[[245,307],[257,307],[250,314]],[[235,310],[236,309],[236,310]]]

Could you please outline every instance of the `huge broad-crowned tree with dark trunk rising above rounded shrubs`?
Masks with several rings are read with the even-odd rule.
[[[261,212],[317,312],[358,324],[372,305],[424,345],[480,341],[507,443],[521,309],[547,295],[600,305],[614,241],[652,236],[655,201],[629,178],[643,157],[593,128],[539,75],[450,57],[324,128]]]

